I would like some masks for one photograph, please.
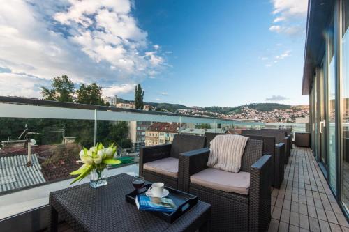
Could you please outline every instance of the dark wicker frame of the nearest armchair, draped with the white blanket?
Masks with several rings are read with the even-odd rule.
[[[250,139],[246,144],[240,172],[249,173],[250,176],[247,194],[191,183],[191,176],[210,169],[207,167],[209,148],[179,155],[179,162],[183,164],[183,190],[211,204],[211,231],[267,230],[271,219],[269,175],[272,164],[270,155],[262,156],[262,149],[262,141]]]

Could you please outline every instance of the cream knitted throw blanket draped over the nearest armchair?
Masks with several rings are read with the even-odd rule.
[[[239,172],[248,137],[235,134],[217,135],[211,141],[207,166]]]

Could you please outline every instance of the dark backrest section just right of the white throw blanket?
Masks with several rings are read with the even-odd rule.
[[[244,155],[242,155],[242,167],[240,171],[251,171],[251,166],[262,157],[263,141],[249,139],[245,146]]]

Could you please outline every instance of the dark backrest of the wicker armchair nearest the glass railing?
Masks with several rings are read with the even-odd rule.
[[[205,136],[174,134],[171,157],[178,158],[180,153],[205,148]]]

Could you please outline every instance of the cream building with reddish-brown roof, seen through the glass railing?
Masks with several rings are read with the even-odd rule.
[[[145,131],[145,146],[170,144],[180,129],[180,123],[154,123]]]

